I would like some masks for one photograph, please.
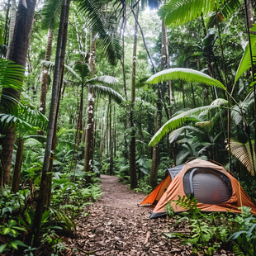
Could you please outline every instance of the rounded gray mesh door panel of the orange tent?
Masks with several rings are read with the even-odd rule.
[[[211,168],[188,170],[183,177],[183,187],[187,196],[206,204],[221,204],[232,196],[230,179]]]

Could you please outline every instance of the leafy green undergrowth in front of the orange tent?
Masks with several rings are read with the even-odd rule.
[[[241,214],[203,213],[197,208],[194,197],[179,197],[175,202],[186,210],[177,216],[175,225],[184,224],[185,230],[190,231],[164,233],[165,237],[182,239],[183,244],[192,246],[193,254],[212,255],[220,247],[230,250],[231,241],[235,255],[255,255],[256,218],[250,213],[249,207],[242,206]],[[171,202],[168,202],[165,211],[173,218]]]

